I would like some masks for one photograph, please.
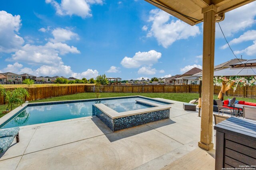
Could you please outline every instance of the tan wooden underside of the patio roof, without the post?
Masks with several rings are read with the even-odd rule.
[[[176,18],[196,25],[204,20],[202,9],[213,4],[217,7],[216,21],[224,20],[224,13],[254,0],[145,0]]]

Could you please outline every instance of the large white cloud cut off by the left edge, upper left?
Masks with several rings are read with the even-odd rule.
[[[11,53],[21,47],[24,39],[18,35],[20,26],[19,15],[12,16],[6,11],[0,11],[0,52]]]

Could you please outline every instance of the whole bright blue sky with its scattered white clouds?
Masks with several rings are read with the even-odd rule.
[[[256,59],[256,2],[220,25],[237,57]],[[2,0],[0,72],[125,80],[202,68],[202,23],[144,0]],[[234,59],[216,24],[215,65]]]

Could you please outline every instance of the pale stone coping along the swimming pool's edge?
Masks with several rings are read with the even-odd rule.
[[[96,101],[96,100],[114,100],[114,99],[122,99],[122,98],[145,98],[148,100],[153,100],[156,102],[164,102],[167,105],[173,104],[161,99],[155,99],[155,98],[148,98],[145,96],[122,96],[122,97],[110,97],[110,98],[94,98],[94,99],[78,99],[78,100],[61,100],[61,101],[51,101],[51,102],[34,102],[32,101],[32,103],[24,103],[21,106],[18,106],[17,108],[13,109],[12,111],[10,111],[9,113],[7,113],[6,115],[4,115],[3,117],[0,118],[0,128],[2,127],[2,124],[5,123],[6,121],[8,121],[9,119],[11,119],[12,117],[14,117],[14,115],[20,113],[20,111],[22,111],[23,109],[25,109],[28,106],[40,106],[40,105],[47,105],[47,104],[64,104],[64,103],[76,103],[76,102],[86,102],[86,101]],[[169,104],[168,104],[169,103]],[[166,106],[166,105],[163,105]],[[109,107],[108,107],[109,108]],[[147,108],[148,109],[148,108]],[[122,113],[122,112],[121,112]],[[88,116],[90,117],[90,116]],[[122,116],[123,117],[123,116]],[[75,118],[75,119],[81,119],[82,117],[79,118]],[[84,118],[84,117],[83,117]],[[75,120],[73,119],[73,120]],[[70,120],[70,119],[65,119],[65,120],[60,120],[60,121],[66,121],[66,120]],[[54,122],[58,122],[58,121],[54,121]],[[47,123],[51,123],[51,122],[46,122],[46,123],[39,123],[39,124],[34,124],[34,126],[40,126],[40,125],[44,125]],[[26,125],[26,126],[33,126],[33,125]],[[20,127],[26,127],[26,126],[20,126]],[[33,126],[33,127],[34,127]]]

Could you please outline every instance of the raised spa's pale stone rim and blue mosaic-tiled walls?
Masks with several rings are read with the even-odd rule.
[[[162,105],[146,100],[136,100],[136,104],[148,108],[118,112],[108,104],[94,104],[92,112],[100,118],[112,131],[143,125],[170,117],[171,105]]]

